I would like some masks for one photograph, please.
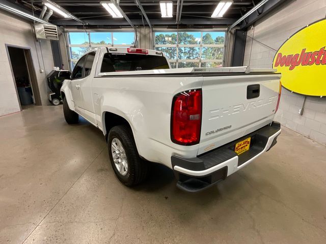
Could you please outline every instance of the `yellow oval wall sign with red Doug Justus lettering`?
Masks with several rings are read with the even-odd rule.
[[[326,19],[291,36],[275,54],[282,85],[306,96],[326,96]]]

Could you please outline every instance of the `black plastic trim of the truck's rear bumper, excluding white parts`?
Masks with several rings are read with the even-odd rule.
[[[172,168],[179,166],[184,169],[192,171],[202,171],[219,165],[227,160],[238,156],[238,166],[252,159],[266,147],[267,141],[270,136],[273,136],[281,129],[280,123],[273,122],[271,125],[264,126],[259,130],[234,140],[226,145],[213,149],[205,154],[199,155],[193,159],[183,159],[179,156],[172,156]],[[239,141],[251,137],[250,149],[241,155],[234,152],[235,144]],[[268,150],[277,143],[277,137],[271,143]],[[198,192],[204,190],[216,182],[223,180],[227,176],[227,167],[221,168],[204,176],[193,176],[180,173],[174,170],[175,176],[178,179],[177,187],[187,192]]]

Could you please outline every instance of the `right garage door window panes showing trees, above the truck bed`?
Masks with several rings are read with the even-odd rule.
[[[225,32],[155,32],[155,49],[172,68],[221,67]]]

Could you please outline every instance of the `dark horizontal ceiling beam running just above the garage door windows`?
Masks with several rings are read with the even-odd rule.
[[[175,19],[149,19],[152,25],[175,25]],[[234,23],[236,19],[214,19],[214,18],[205,18],[205,19],[182,19],[182,24],[189,25],[230,25]],[[89,25],[100,25],[100,26],[123,26],[128,25],[128,22],[124,19],[89,19]],[[82,25],[75,20],[65,20],[65,19],[55,19],[51,20],[51,23],[62,26],[71,26],[71,25]],[[141,19],[133,19],[132,23],[135,25],[142,25]],[[130,24],[130,23],[129,23]]]

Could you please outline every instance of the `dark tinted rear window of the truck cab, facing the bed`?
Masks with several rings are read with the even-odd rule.
[[[163,56],[105,53],[101,66],[101,73],[169,69],[168,61]]]

